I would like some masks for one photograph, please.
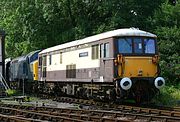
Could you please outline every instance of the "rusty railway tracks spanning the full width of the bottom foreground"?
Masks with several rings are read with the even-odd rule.
[[[3,115],[2,115],[3,114]],[[16,121],[180,121],[180,112],[159,109],[145,109],[126,106],[114,110],[86,110],[50,107],[33,107],[21,105],[0,105],[1,120]]]

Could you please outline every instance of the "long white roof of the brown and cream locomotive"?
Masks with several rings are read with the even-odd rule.
[[[98,41],[101,39],[117,37],[117,36],[143,36],[143,37],[154,37],[154,38],[157,37],[155,34],[152,34],[152,33],[146,32],[146,31],[142,31],[142,30],[138,30],[135,28],[117,29],[117,30],[97,34],[94,36],[90,36],[90,37],[87,37],[84,39],[80,39],[80,40],[68,42],[65,44],[57,45],[54,47],[50,47],[45,50],[42,50],[39,54],[40,55],[46,54],[46,53],[53,52],[56,50],[61,50],[61,49],[65,49],[65,48],[69,48],[69,47],[73,47],[73,46],[77,46],[77,45],[81,45],[81,44],[87,44],[87,43],[95,42],[95,41]]]

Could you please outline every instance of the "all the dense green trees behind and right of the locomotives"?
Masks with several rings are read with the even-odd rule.
[[[6,56],[16,57],[117,28],[158,35],[161,75],[180,81],[179,0],[0,0]],[[180,98],[178,98],[180,99]]]

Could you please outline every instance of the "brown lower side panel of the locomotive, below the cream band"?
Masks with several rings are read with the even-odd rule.
[[[72,73],[72,72],[71,72]],[[47,71],[46,77],[39,77],[39,81],[46,82],[112,82],[113,76],[100,75],[99,68],[76,69],[75,75],[67,75],[67,70]],[[69,77],[73,76],[73,77]]]

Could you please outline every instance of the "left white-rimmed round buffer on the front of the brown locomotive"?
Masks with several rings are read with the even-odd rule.
[[[127,78],[127,77],[123,78],[123,79],[120,81],[120,86],[121,86],[121,88],[124,89],[124,90],[130,89],[131,86],[132,86],[132,81],[131,81],[131,79],[129,79],[129,78]]]

